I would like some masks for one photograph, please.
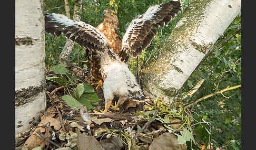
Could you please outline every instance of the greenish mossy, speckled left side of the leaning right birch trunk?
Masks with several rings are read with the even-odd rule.
[[[181,20],[172,30],[170,37],[161,48],[159,59],[142,69],[141,78],[144,81],[144,87],[147,93],[154,95],[154,92],[156,92],[155,94],[157,95],[165,94],[168,97],[173,97],[176,89],[158,87],[161,79],[169,70],[176,70],[183,73],[180,68],[171,64],[177,61],[177,56],[183,53],[183,50],[189,49],[191,45],[203,53],[210,47],[210,45],[198,45],[190,38],[202,23],[205,14],[204,10],[210,5],[211,1],[213,0],[198,0],[191,3],[184,10]],[[174,55],[175,57],[173,57]]]

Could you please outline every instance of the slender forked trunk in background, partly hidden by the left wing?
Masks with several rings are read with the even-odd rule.
[[[65,0],[66,16],[70,18],[70,10],[68,8],[68,2]],[[75,1],[73,20],[80,21],[82,13],[82,0]],[[66,43],[63,51],[60,54],[60,63],[63,63],[65,67],[70,65],[70,55],[74,47],[74,42],[70,39],[66,39]]]

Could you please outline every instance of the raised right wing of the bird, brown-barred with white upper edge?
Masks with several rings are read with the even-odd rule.
[[[152,6],[144,14],[133,19],[123,36],[119,57],[122,60],[127,60],[128,52],[133,57],[139,55],[150,45],[157,34],[156,29],[168,24],[180,10],[180,2],[172,1]]]

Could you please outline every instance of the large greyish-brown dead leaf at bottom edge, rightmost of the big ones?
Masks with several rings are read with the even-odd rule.
[[[154,138],[149,150],[186,150],[186,144],[178,144],[177,137],[172,133],[164,133]]]

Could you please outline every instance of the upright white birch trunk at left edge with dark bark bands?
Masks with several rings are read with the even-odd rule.
[[[15,1],[15,134],[46,107],[43,0]]]

